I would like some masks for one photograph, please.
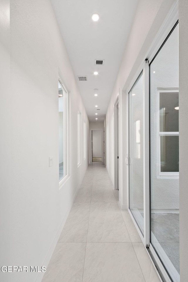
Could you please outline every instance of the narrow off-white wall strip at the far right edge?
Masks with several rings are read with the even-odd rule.
[[[179,231],[180,231],[180,281],[188,277],[188,2],[179,0]]]

